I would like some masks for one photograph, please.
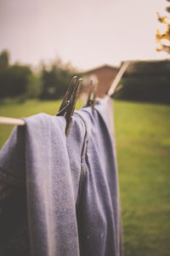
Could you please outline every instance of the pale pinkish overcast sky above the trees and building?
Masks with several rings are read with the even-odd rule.
[[[166,58],[155,50],[165,0],[0,0],[0,51],[37,65],[59,56],[88,69]]]

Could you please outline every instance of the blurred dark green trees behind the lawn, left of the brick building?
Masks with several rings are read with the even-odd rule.
[[[65,94],[76,70],[71,63],[61,60],[50,65],[42,63],[39,72],[29,66],[10,65],[8,50],[0,53],[0,98],[21,96],[26,98],[59,99]]]

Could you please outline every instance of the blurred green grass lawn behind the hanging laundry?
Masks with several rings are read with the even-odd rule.
[[[0,105],[0,115],[54,115],[59,102]],[[115,102],[125,255],[170,255],[170,106]],[[0,125],[0,147],[12,127]]]

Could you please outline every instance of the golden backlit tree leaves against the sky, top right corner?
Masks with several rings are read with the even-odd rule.
[[[167,0],[167,2],[170,2],[170,0]],[[162,29],[156,30],[156,50],[170,54],[170,6],[167,6],[166,11],[167,15],[157,14]]]

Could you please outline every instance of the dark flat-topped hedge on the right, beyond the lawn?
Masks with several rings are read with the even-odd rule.
[[[117,99],[170,103],[170,60],[130,61]]]

